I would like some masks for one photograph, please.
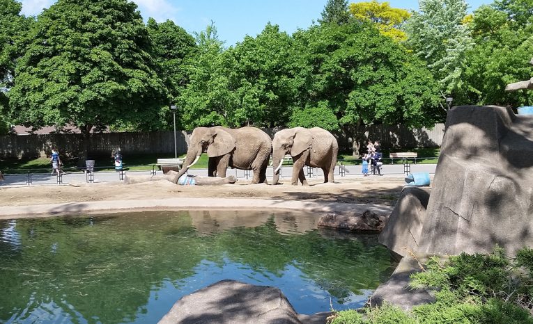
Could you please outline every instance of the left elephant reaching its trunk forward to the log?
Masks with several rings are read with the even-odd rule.
[[[203,152],[207,152],[210,177],[226,177],[226,169],[231,166],[241,170],[253,170],[252,184],[267,184],[266,169],[272,151],[272,140],[261,129],[196,127],[189,142],[187,157],[178,177],[194,165]]]

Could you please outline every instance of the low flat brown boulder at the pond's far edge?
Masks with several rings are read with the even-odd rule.
[[[386,216],[380,216],[373,211],[364,211],[362,216],[344,216],[328,213],[318,220],[318,227],[329,227],[352,232],[379,233],[385,225]]]

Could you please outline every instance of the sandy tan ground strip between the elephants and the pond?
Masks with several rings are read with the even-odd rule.
[[[177,186],[162,180],[142,184],[116,182],[0,187],[0,206],[172,197],[256,198],[390,206],[396,202],[404,184],[402,177],[344,178],[337,180],[335,184],[322,184],[320,179],[316,179],[309,181],[310,186],[291,186],[287,180],[285,182],[277,186],[249,184],[246,180],[224,186]]]

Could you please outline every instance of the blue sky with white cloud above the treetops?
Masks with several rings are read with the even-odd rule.
[[[21,1],[21,0],[19,0]],[[367,0],[370,1],[370,0]],[[378,0],[379,1],[379,0]],[[473,11],[491,0],[466,0]],[[54,0],[22,0],[24,15],[38,15]],[[245,35],[255,37],[270,22],[281,31],[293,33],[307,29],[320,18],[327,0],[134,0],[145,22],[153,17],[157,22],[173,20],[187,32],[206,29],[211,21],[217,27],[220,40],[226,47],[242,42]],[[359,1],[350,1],[359,2]],[[383,2],[383,1],[380,1]],[[417,0],[389,0],[394,8],[418,9]]]

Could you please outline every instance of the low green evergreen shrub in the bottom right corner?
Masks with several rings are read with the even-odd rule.
[[[521,267],[521,268],[520,268]],[[533,250],[524,248],[515,259],[501,249],[492,254],[431,257],[426,271],[411,276],[410,286],[433,290],[435,302],[401,309],[384,304],[366,308],[364,318],[340,311],[339,323],[533,323]],[[351,316],[351,317],[350,317]],[[337,323],[332,321],[332,323]]]

